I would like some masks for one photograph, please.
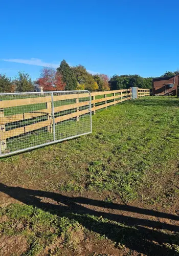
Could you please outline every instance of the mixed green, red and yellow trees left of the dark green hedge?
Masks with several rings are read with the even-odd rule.
[[[44,67],[35,81],[25,72],[19,71],[13,80],[0,74],[0,92],[31,92],[35,84],[42,87],[43,91],[110,90],[107,75],[92,75],[84,66],[70,67],[65,60],[61,61],[56,70]]]

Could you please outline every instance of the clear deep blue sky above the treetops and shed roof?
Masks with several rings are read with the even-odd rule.
[[[93,73],[179,69],[179,1],[1,1],[0,73],[39,77],[62,59]]]

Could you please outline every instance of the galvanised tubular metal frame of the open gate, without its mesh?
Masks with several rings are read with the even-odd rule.
[[[57,140],[56,139],[56,133],[55,133],[56,132],[56,129],[55,129],[56,126],[55,126],[55,112],[54,112],[54,94],[56,94],[56,93],[60,93],[60,94],[80,93],[80,92],[84,92],[84,93],[88,93],[89,94],[89,109],[88,110],[89,110],[89,115],[90,115],[90,117],[89,117],[90,118],[90,131],[86,132],[86,133],[82,133],[82,134],[78,134],[78,135],[74,135],[74,136],[70,136],[70,137],[66,137],[66,138],[58,139]],[[0,97],[2,95],[5,96],[5,95],[26,95],[26,94],[28,94],[28,95],[29,94],[34,94],[34,95],[36,95],[36,94],[44,94],[44,95],[45,94],[51,94],[51,97],[52,97],[52,116],[53,116],[53,141],[52,142],[47,142],[47,143],[42,143],[42,144],[31,146],[31,147],[27,147],[27,148],[23,148],[21,150],[16,150],[16,151],[13,151],[13,152],[8,152],[8,153],[2,153],[1,146],[0,146],[0,158],[1,157],[5,157],[5,156],[9,156],[9,155],[14,155],[14,154],[21,153],[21,152],[26,152],[26,151],[29,151],[29,150],[34,150],[35,148],[51,145],[51,144],[58,143],[58,142],[61,142],[61,141],[64,141],[64,140],[69,140],[69,139],[77,138],[77,137],[80,137],[80,136],[92,133],[92,99],[91,99],[91,92],[89,92],[87,90],[80,90],[80,91],[49,91],[49,92],[25,92],[25,93],[0,93]],[[80,98],[80,97],[78,97],[78,98]],[[0,138],[1,138],[1,134],[0,134]],[[1,142],[1,140],[0,140],[0,142]]]

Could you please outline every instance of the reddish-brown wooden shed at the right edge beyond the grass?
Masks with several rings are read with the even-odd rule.
[[[176,95],[179,74],[153,78],[153,95]]]

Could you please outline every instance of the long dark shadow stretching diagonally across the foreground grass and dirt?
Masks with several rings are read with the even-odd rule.
[[[155,210],[123,204],[107,203],[83,197],[71,198],[47,191],[10,187],[2,183],[0,183],[0,191],[27,205],[33,205],[34,207],[41,208],[44,211],[48,211],[51,214],[56,214],[60,217],[65,216],[69,219],[76,220],[88,230],[105,235],[114,242],[121,243],[138,253],[147,255],[174,255],[176,253],[173,248],[166,248],[163,244],[172,244],[175,232],[179,231],[178,226],[154,220],[127,217],[122,214],[117,215],[96,211],[94,209],[89,209],[84,205],[89,207],[94,206],[136,212],[143,216],[165,218],[174,221],[179,221],[178,216]],[[42,198],[55,200],[59,205],[53,204],[53,201],[52,203],[41,202]],[[108,222],[103,222],[96,218],[100,216],[106,218]],[[124,225],[118,225],[118,223]],[[161,232],[159,229],[163,229],[164,232]],[[172,234],[168,234],[168,231],[171,231]]]

